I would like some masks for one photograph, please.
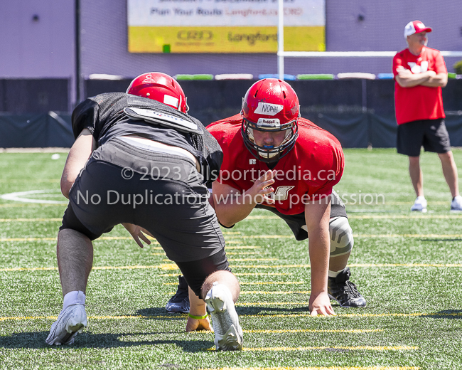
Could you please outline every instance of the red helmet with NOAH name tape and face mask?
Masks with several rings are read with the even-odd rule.
[[[277,162],[294,147],[299,137],[299,97],[291,85],[276,78],[254,83],[242,100],[242,137],[247,149],[262,162]],[[254,130],[286,131],[277,147],[259,146],[254,142]]]

